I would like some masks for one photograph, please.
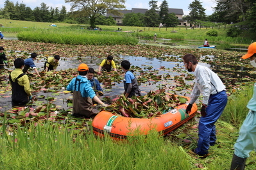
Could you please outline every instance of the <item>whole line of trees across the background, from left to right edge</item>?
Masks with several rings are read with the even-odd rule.
[[[223,24],[240,23],[247,26],[249,32],[255,34],[256,27],[256,2],[255,0],[215,0],[217,5],[213,8],[212,15],[205,14],[200,0],[194,0],[189,4],[189,15],[185,15],[183,20],[189,23],[207,24],[207,22],[218,22]],[[100,25],[115,25],[112,17],[105,17],[106,13],[114,15],[123,14],[119,12],[124,9],[125,0],[65,0],[71,3],[71,12],[67,12],[65,6],[62,8],[52,8],[45,3],[33,10],[22,3],[4,1],[4,7],[0,8],[1,19],[30,20],[37,22],[67,22],[77,24],[90,24],[90,27]],[[166,0],[157,6],[157,1],[149,1],[150,9],[142,13],[127,13],[124,15],[124,26],[158,26],[159,23],[167,27],[178,24],[175,13],[168,13],[168,3]]]

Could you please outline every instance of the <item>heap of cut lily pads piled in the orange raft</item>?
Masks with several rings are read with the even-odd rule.
[[[166,93],[165,89],[158,89],[139,97],[126,98],[121,95],[105,110],[124,117],[151,118],[160,116],[185,102],[187,102],[185,97]]]

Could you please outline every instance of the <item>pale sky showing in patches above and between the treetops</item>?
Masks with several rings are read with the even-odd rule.
[[[0,8],[4,7],[4,1],[1,0],[0,2]],[[52,6],[53,8],[59,7],[60,9],[62,6],[65,6],[67,11],[70,10],[71,5],[70,3],[65,3],[65,0],[10,0],[14,4],[16,2],[18,3],[24,3],[26,6],[29,6],[32,10],[38,6],[40,7],[41,3],[46,3],[47,6]],[[127,10],[132,10],[132,8],[146,8],[149,9],[149,3],[150,0],[126,0],[126,3],[124,6],[126,6]],[[184,15],[189,15],[189,4],[192,3],[194,0],[166,0],[169,8],[179,8],[183,9]],[[216,6],[216,1],[215,0],[200,0],[201,5],[203,8],[205,8],[205,13],[206,15],[211,15],[213,13],[212,7]],[[160,6],[162,1],[158,1],[157,4]]]

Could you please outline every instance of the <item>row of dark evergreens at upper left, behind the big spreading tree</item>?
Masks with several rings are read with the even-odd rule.
[[[70,24],[88,24],[89,19],[78,15],[78,12],[67,12],[65,6],[62,8],[53,8],[41,3],[40,6],[33,10],[22,3],[13,3],[12,1],[4,1],[4,7],[0,8],[0,19],[11,20],[27,20],[35,22],[66,22]],[[100,16],[96,20],[98,25],[115,25],[112,17]]]

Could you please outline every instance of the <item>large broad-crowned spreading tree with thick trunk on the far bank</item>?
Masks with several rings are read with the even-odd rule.
[[[71,11],[80,12],[83,17],[87,17],[90,20],[90,27],[96,27],[95,20],[99,16],[107,12],[121,15],[118,9],[125,8],[125,0],[65,0],[65,3],[71,3]]]

